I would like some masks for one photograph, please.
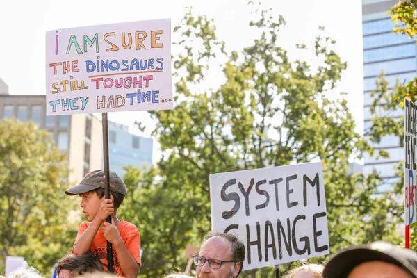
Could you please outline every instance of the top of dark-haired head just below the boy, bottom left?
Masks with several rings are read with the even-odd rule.
[[[92,253],[66,255],[58,261],[55,268],[58,278],[72,278],[95,271],[103,272],[103,265],[101,265],[97,256]]]

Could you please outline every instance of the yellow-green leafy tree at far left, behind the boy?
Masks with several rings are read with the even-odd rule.
[[[47,131],[16,120],[0,121],[0,272],[6,256],[24,256],[42,274],[71,251],[76,226],[67,188],[66,155]]]

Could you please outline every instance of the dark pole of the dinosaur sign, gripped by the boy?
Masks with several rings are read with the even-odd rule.
[[[104,154],[104,195],[110,199],[110,169],[108,165],[108,122],[107,113],[101,113],[101,124],[103,126],[103,154]],[[106,222],[111,224],[111,215],[108,215]],[[113,273],[113,245],[107,242],[107,265],[108,272]]]

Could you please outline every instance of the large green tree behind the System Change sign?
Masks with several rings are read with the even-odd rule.
[[[242,54],[225,51],[212,20],[194,17],[190,11],[181,23],[174,28],[182,49],[173,56],[176,107],[151,112],[158,121],[154,135],[165,156],[158,172],[143,179],[146,186],[143,182],[138,186],[140,174],[127,176],[139,177],[132,181],[133,192],[151,205],[132,207],[138,223],[146,222],[142,229],[147,235],[142,236],[149,268],[141,273],[158,277],[156,273],[169,272],[175,265],[185,267],[186,260],[179,259],[181,247],[198,245],[210,229],[209,174],[318,159],[325,166],[331,252],[373,240],[398,243],[395,227],[400,209],[395,195],[377,195],[381,179],[375,172],[368,177],[347,173],[351,156],[374,149],[354,131],[345,99],[329,98],[346,67],[332,51],[334,40],[318,35],[312,49],[315,60],[309,65],[290,60],[279,47],[278,34],[285,21],[274,20],[269,11],[250,22],[260,35]],[[304,44],[297,47],[309,51]],[[218,57],[227,57],[219,68],[225,81],[207,86],[209,65]],[[162,245],[164,234],[170,235],[163,241],[165,253],[154,245]],[[290,267],[281,265],[283,271]],[[244,275],[272,277],[273,270]]]

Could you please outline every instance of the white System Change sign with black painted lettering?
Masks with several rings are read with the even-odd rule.
[[[210,175],[213,231],[245,243],[243,270],[329,254],[322,163]]]

